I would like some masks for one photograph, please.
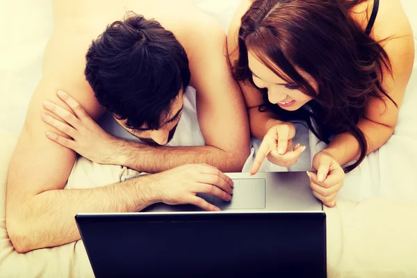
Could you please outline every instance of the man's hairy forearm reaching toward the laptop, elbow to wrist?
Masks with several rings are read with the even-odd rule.
[[[10,179],[18,179],[14,176],[9,174]],[[8,233],[19,253],[54,247],[79,240],[77,213],[134,212],[155,202],[150,176],[99,188],[47,190],[26,196],[19,210],[8,214]]]

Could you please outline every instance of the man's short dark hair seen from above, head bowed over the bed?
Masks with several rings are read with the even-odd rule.
[[[132,129],[159,129],[190,83],[187,54],[174,34],[135,13],[107,26],[85,58],[99,104]]]

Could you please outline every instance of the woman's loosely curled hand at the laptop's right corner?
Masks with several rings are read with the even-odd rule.
[[[334,206],[338,190],[342,188],[345,179],[341,165],[327,152],[322,151],[314,156],[311,170],[317,171],[317,174],[307,172],[313,195],[326,206]]]

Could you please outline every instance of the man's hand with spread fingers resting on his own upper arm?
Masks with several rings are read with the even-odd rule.
[[[56,118],[46,113],[42,114],[42,120],[67,134],[72,139],[65,138],[51,131],[47,131],[47,138],[74,150],[74,152],[95,163],[113,164],[114,158],[112,158],[112,155],[115,147],[120,145],[120,140],[101,129],[85,113],[83,107],[66,92],[58,91],[57,95],[70,106],[76,116],[51,101],[45,101],[44,108],[65,122],[56,120]]]

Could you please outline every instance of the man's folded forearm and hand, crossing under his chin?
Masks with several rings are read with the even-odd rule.
[[[57,95],[70,106],[75,115],[49,102],[44,104],[44,107],[51,113],[42,115],[42,119],[70,138],[56,133],[47,133],[46,136],[91,161],[123,165],[143,172],[163,172],[186,163],[206,163],[215,167],[220,166],[220,170],[232,169],[229,172],[235,169],[235,165],[227,164],[231,163],[233,157],[229,161],[221,161],[221,158],[229,154],[216,147],[150,147],[115,138],[101,129],[73,97],[63,91],[58,92]],[[65,122],[56,120],[51,115],[58,116]]]

